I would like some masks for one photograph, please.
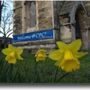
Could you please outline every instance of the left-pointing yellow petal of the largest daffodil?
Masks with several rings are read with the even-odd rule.
[[[60,50],[54,50],[54,51],[51,51],[49,53],[49,58],[51,58],[52,60],[57,61],[57,60],[60,60],[62,58],[62,55],[63,55],[63,53],[60,52]]]

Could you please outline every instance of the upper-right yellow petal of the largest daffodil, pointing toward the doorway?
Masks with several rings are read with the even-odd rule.
[[[76,52],[76,51],[78,51],[81,48],[81,45],[82,45],[81,40],[77,39],[77,40],[73,41],[71,44],[69,44],[68,47],[71,50],[73,50],[73,52]]]

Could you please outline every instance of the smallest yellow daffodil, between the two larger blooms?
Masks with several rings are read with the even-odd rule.
[[[36,57],[36,61],[43,61],[46,59],[47,55],[46,55],[46,50],[44,49],[39,49],[36,54],[35,54],[35,57]]]

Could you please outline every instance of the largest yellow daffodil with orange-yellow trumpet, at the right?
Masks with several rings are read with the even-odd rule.
[[[79,52],[81,40],[75,40],[70,44],[65,44],[61,41],[57,42],[58,50],[50,52],[49,57],[55,60],[55,65],[59,66],[66,72],[72,72],[80,68],[78,58],[86,55],[86,52]]]

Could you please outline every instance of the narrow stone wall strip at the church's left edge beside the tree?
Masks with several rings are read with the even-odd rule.
[[[22,31],[22,2],[14,1],[14,34]]]

